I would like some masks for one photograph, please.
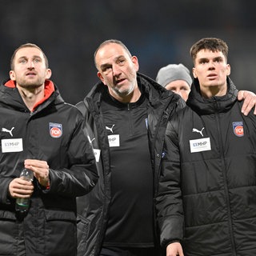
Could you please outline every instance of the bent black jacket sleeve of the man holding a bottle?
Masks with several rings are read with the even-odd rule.
[[[50,169],[50,190],[44,192],[78,197],[90,192],[98,181],[93,148],[83,131],[82,119],[81,115],[67,150],[69,167],[58,170]]]

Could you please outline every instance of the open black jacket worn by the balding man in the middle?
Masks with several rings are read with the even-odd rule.
[[[138,74],[138,83],[144,87],[148,99],[148,131],[152,167],[155,183],[158,181],[158,170],[166,123],[174,111],[184,106],[178,95],[159,86],[154,80]],[[86,119],[86,132],[90,136],[94,150],[101,150],[98,162],[99,180],[94,190],[85,197],[78,198],[78,255],[98,255],[106,231],[110,205],[110,150],[105,124],[99,106],[102,93],[107,87],[98,82],[83,102],[78,103]],[[94,139],[95,138],[95,139]],[[98,154],[98,152],[95,152]],[[153,200],[153,198],[152,198]]]

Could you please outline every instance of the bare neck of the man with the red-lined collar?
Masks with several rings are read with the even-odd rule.
[[[35,103],[39,102],[44,98],[44,84],[37,87],[21,87],[17,86],[22,99],[30,111],[33,110]]]

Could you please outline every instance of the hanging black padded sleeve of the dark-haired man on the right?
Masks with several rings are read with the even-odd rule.
[[[183,208],[181,192],[178,135],[171,122],[166,128],[162,152],[161,173],[155,200],[161,246],[183,237]]]

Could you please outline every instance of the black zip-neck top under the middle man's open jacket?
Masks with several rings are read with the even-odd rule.
[[[103,246],[153,247],[153,171],[146,98],[141,96],[134,103],[118,102],[109,94],[103,98],[112,194]]]

